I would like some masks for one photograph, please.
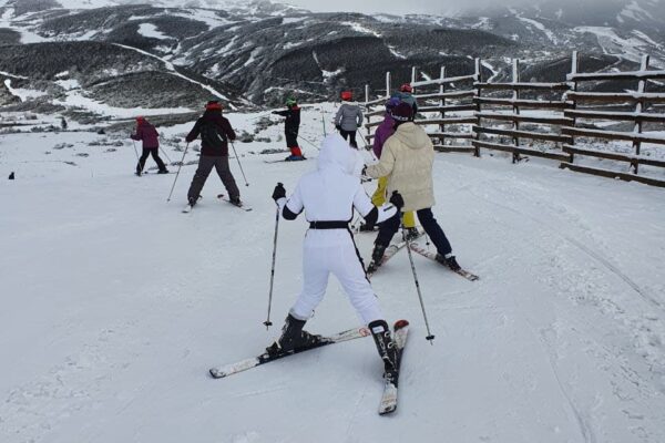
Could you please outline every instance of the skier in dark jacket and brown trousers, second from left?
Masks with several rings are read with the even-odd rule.
[[[222,104],[216,100],[207,102],[205,112],[185,137],[187,143],[192,143],[201,135],[198,167],[187,192],[187,200],[191,206],[196,204],[201,189],[203,189],[203,185],[205,185],[213,167],[217,171],[231,203],[241,204],[241,190],[228,166],[228,141],[234,141],[236,134],[228,120],[222,115]]]

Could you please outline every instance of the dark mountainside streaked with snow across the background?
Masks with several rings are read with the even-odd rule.
[[[0,71],[14,91],[35,92],[24,100],[7,86],[0,101],[13,109],[89,104],[83,111],[93,102],[195,111],[211,94],[234,106],[277,104],[293,92],[321,101],[340,89],[361,95],[365,84],[379,92],[386,71],[408,81],[413,65],[423,76],[441,65],[466,74],[475,56],[497,81],[511,58],[524,61],[529,79],[562,81],[573,50],[583,52],[583,70],[634,69],[643,53],[662,66],[659,1],[369,17],[269,1],[10,0],[0,6]],[[53,56],[60,50],[68,58]]]

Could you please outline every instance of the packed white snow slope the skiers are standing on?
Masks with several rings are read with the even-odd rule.
[[[250,130],[258,116],[229,120]],[[304,111],[310,142],[321,138],[320,117]],[[411,322],[399,408],[379,416],[369,338],[228,379],[207,374],[279,333],[300,290],[306,224],[280,222],[266,331],[270,194],[277,182],[293,190],[315,161],[267,164],[286,153],[259,153],[284,142],[236,143],[249,186],[235,158],[232,168],[254,210],[217,202],[213,174],[182,214],[195,166],[182,168],[166,203],[175,175],[134,176],[131,142],[111,140],[0,138],[1,442],[665,441],[662,189],[538,161],[437,155],[434,214],[481,280],[413,257],[430,346],[406,250],[372,277],[388,319]],[[176,145],[164,145],[172,161]],[[195,159],[190,151],[185,163]],[[372,240],[357,236],[366,258]],[[358,323],[331,278],[307,329]]]

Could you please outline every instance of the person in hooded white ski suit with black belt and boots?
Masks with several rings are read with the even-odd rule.
[[[354,208],[366,220],[381,223],[395,216],[403,200],[396,193],[391,205],[376,207],[358,177],[352,175],[356,161],[346,141],[339,134],[331,134],[321,144],[317,171],[303,176],[288,199],[282,184],[275,187],[273,198],[283,217],[293,220],[305,210],[309,230],[303,247],[303,289],[289,310],[282,337],[267,351],[289,352],[320,339],[303,327],[323,300],[328,277],[334,274],[370,329],[386,372],[390,373],[395,363],[392,339],[348,224]]]

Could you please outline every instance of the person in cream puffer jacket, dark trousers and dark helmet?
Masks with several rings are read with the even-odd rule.
[[[396,122],[396,131],[383,144],[381,159],[368,166],[366,174],[370,177],[388,177],[388,195],[401,194],[405,206],[402,212],[416,210],[424,231],[437,247],[437,260],[453,270],[459,270],[452,247],[432,214],[434,189],[432,165],[434,147],[427,133],[412,122],[413,109],[400,103],[391,111]],[[390,240],[399,229],[399,215],[385,222],[375,240],[372,260],[380,264]]]

